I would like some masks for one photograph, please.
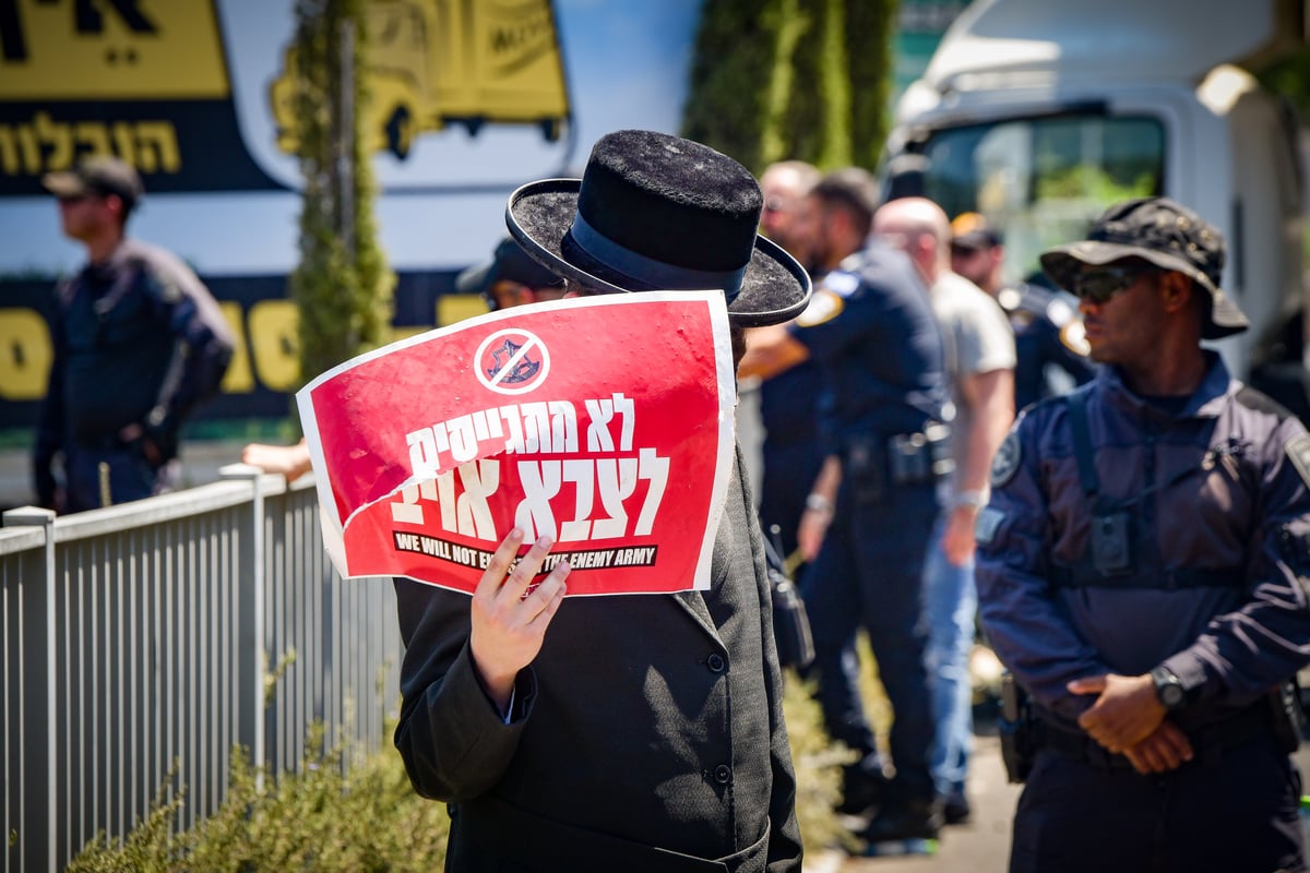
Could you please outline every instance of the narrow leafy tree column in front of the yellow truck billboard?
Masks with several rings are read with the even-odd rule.
[[[304,203],[300,264],[290,289],[300,315],[303,381],[384,344],[390,334],[396,277],[377,245],[376,186],[358,122],[368,98],[363,8],[363,0],[296,3]]]

